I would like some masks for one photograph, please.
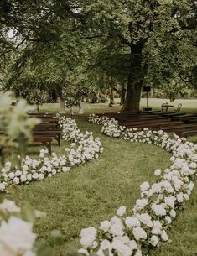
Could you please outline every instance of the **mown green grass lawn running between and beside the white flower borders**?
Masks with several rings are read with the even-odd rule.
[[[108,111],[106,104],[84,104],[84,107],[86,113]],[[42,111],[55,112],[58,104],[45,104],[41,108]],[[47,212],[47,217],[37,220],[34,231],[39,238],[46,240],[54,228],[64,233],[64,245],[55,248],[57,256],[64,255],[68,243],[78,243],[81,228],[98,225],[113,216],[119,206],[127,206],[129,212],[140,195],[139,185],[144,180],[153,182],[153,171],[157,168],[163,170],[170,164],[170,154],[156,146],[106,137],[101,134],[100,126],[81,119],[78,125],[101,138],[104,152],[99,159],[76,167],[70,173],[61,173],[30,185],[13,186],[6,195],[0,194],[0,199],[7,197],[18,205],[29,201],[35,209]],[[65,144],[60,148],[55,144],[52,149],[63,154]],[[36,156],[41,148],[29,148],[29,155]],[[164,243],[162,248],[153,251],[153,256],[197,255],[196,187],[185,211],[174,222],[169,238],[172,243]]]

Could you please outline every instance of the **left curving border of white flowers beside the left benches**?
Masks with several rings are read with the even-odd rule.
[[[47,149],[42,149],[39,159],[26,156],[20,167],[7,162],[0,170],[0,191],[5,191],[7,185],[29,184],[33,180],[43,180],[57,173],[67,172],[75,165],[99,157],[103,151],[99,138],[94,138],[91,132],[81,133],[74,119],[59,117],[59,121],[62,138],[71,143],[72,149],[65,148],[65,155],[57,156],[52,153],[51,157]]]

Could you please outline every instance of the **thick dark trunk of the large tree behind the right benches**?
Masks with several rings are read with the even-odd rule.
[[[131,47],[131,67],[127,80],[126,100],[122,107],[122,112],[138,112],[143,87],[142,71],[142,49],[143,44]]]

